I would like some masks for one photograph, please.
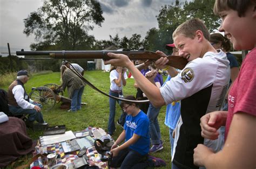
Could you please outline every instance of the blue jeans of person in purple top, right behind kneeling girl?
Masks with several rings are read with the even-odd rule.
[[[147,117],[150,120],[150,137],[151,137],[151,144],[160,144],[161,139],[161,133],[160,133],[160,127],[158,123],[158,114],[160,111],[160,108],[154,107],[152,104],[149,105],[149,110],[147,110]]]

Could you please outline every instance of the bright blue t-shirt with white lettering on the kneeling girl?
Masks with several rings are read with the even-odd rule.
[[[149,118],[140,111],[137,116],[127,115],[125,119],[125,141],[132,138],[133,133],[140,136],[136,143],[129,146],[134,151],[145,155],[149,153],[150,148],[150,133],[149,133]]]

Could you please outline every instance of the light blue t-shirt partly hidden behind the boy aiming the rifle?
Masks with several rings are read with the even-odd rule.
[[[168,75],[165,83],[171,79],[171,76]],[[163,84],[163,86],[165,85]],[[165,121],[164,124],[171,128],[172,130],[175,129],[177,122],[180,117],[180,101],[172,102],[166,106],[166,114],[165,114]]]

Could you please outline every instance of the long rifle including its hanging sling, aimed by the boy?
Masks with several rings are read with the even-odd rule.
[[[161,55],[158,55],[155,52],[152,51],[145,51],[145,50],[136,50],[136,51],[110,51],[110,50],[102,50],[102,51],[16,51],[17,56],[49,56],[49,57],[43,57],[43,58],[20,58],[21,60],[39,60],[39,59],[103,59],[103,60],[110,60],[111,57],[107,56],[107,53],[120,53],[127,55],[130,60],[151,60],[152,62],[156,61],[157,59],[164,57]],[[187,60],[183,57],[179,56],[167,56],[169,62],[167,65],[176,67],[180,70],[182,70],[186,64]],[[138,69],[143,67],[144,64],[138,65]],[[139,68],[140,67],[140,68]],[[147,103],[150,102],[149,100],[127,100],[122,99],[114,96],[110,96],[107,93],[104,93],[103,91],[97,89],[94,85],[92,85],[88,80],[86,80],[83,76],[79,75],[78,72],[74,72],[77,74],[78,77],[82,78],[83,81],[92,87],[92,89],[104,94],[105,96],[108,96],[110,98],[120,100],[123,102],[130,102],[130,103]]]

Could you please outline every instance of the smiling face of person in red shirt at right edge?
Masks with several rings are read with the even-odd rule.
[[[219,31],[225,32],[235,50],[250,50],[255,46],[256,22],[253,5],[247,9],[244,17],[239,17],[238,12],[226,10],[220,12],[222,20]],[[254,16],[254,17],[253,17]]]

